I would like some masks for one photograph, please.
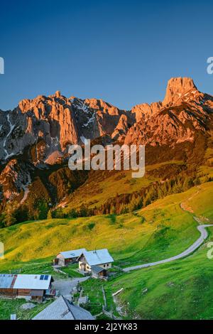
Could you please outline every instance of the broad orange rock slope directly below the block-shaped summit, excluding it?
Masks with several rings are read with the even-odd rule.
[[[210,117],[193,112],[186,105],[163,109],[144,122],[131,126],[125,144],[150,144],[151,146],[175,146],[183,141],[193,142],[197,131],[207,130]]]

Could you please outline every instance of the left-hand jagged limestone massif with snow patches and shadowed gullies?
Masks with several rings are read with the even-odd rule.
[[[131,113],[99,99],[66,98],[60,92],[23,99],[12,112],[0,112],[0,160],[7,161],[35,145],[40,156],[35,163],[53,163],[53,157],[65,155],[70,144],[82,144],[82,137],[111,135],[121,115],[133,124]],[[40,141],[43,146],[38,147]]]

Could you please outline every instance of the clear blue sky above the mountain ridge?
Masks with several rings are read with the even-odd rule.
[[[1,1],[0,109],[56,90],[130,109],[175,76],[213,95],[212,14],[207,0]]]

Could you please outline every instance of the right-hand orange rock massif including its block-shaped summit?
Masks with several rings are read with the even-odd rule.
[[[140,104],[132,109],[136,122],[126,134],[125,144],[169,145],[195,141],[212,123],[213,97],[197,90],[192,79],[172,78],[163,102]]]

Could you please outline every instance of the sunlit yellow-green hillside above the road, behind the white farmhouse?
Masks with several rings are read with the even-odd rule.
[[[212,185],[201,185],[198,193],[209,212],[211,201],[205,198],[211,196]],[[195,195],[195,200],[196,187],[182,194],[169,195],[126,215],[40,220],[6,227],[0,230],[0,240],[5,246],[5,259],[0,260],[0,270],[33,260],[45,261],[48,258],[50,261],[58,252],[80,247],[107,247],[120,266],[178,254],[200,235],[192,213],[180,208],[180,203],[192,195]]]

